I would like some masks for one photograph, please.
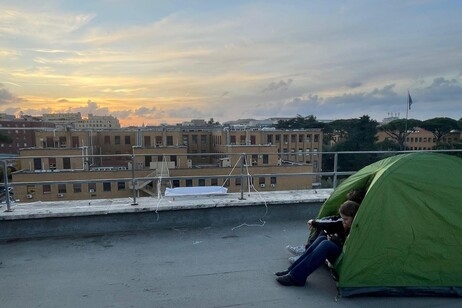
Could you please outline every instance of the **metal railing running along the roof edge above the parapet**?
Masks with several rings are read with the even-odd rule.
[[[413,152],[443,152],[446,154],[451,154],[451,155],[458,155],[462,156],[462,150],[425,150],[425,151],[348,151],[348,152],[317,152],[316,155],[322,155],[322,161],[323,161],[323,167],[324,170],[321,169],[321,171],[317,172],[297,172],[297,173],[254,173],[251,175],[251,177],[272,177],[272,176],[278,176],[278,177],[300,177],[300,176],[312,176],[317,179],[320,179],[320,181],[317,183],[316,187],[312,188],[336,188],[339,184],[340,181],[342,181],[344,178],[348,177],[349,175],[355,173],[357,170],[359,170],[361,167],[364,167],[374,161],[381,160],[386,157],[390,157],[393,155],[397,154],[404,154],[404,153],[413,153]],[[180,180],[180,179],[194,179],[194,178],[201,178],[201,179],[232,179],[232,178],[240,178],[241,181],[241,187],[240,187],[240,198],[243,198],[244,194],[244,187],[247,187],[247,185],[253,185],[252,184],[252,179],[251,177],[249,178],[248,172],[246,172],[246,168],[248,167],[248,159],[247,157],[251,155],[261,155],[262,153],[239,153],[239,154],[226,154],[226,156],[230,155],[235,155],[238,156],[238,159],[235,159],[237,163],[233,166],[233,170],[237,168],[239,172],[237,174],[216,174],[216,175],[200,175],[200,176],[169,176],[165,175],[162,176],[162,180],[165,181],[173,181],[173,180]],[[192,156],[216,156],[216,157],[223,157],[223,153],[197,153],[197,154],[163,154],[164,156],[168,155],[176,155],[176,156],[187,156],[187,157],[192,157]],[[283,160],[284,157],[288,157],[288,155],[292,154],[287,154],[287,153],[278,153],[278,154],[268,154],[268,155],[278,155],[278,159],[280,159],[281,164],[300,164],[303,165],[299,162],[295,161],[290,161],[290,160]],[[297,153],[295,153],[297,155]],[[312,154],[313,155],[313,154]],[[356,170],[342,170],[342,168],[339,168],[340,162],[342,162],[342,159],[346,159],[347,157],[351,156],[357,156],[357,155],[362,155],[361,157],[364,157],[367,159],[361,159],[360,161],[363,163],[363,165],[359,165]],[[126,181],[128,183],[131,183],[132,186],[132,200],[133,200],[133,205],[137,204],[137,192],[136,192],[136,184],[138,181],[146,181],[146,180],[152,180],[152,181],[159,181],[159,177],[157,176],[151,176],[151,177],[136,177],[135,176],[135,170],[136,170],[136,159],[138,156],[145,156],[144,154],[119,154],[119,155],[92,155],[91,157],[86,157],[85,159],[87,160],[88,158],[91,159],[104,159],[106,157],[119,157],[122,159],[125,159],[129,164],[131,164],[131,168],[128,170],[131,170],[131,176],[130,177],[125,177],[125,178],[104,178],[104,179],[91,179],[91,180],[70,180],[66,181],[66,183],[97,183],[97,182],[120,182],[120,181]],[[60,158],[82,158],[82,156],[78,155],[59,155],[55,157],[60,157]],[[3,157],[1,158],[1,165],[3,168],[3,184],[0,185],[0,201],[6,202],[7,205],[7,210],[6,211],[11,211],[11,202],[14,202],[14,197],[13,194],[14,192],[12,191],[12,185],[15,186],[20,186],[20,185],[47,185],[47,184],[60,184],[63,181],[33,181],[33,182],[14,182],[11,183],[9,182],[8,179],[8,174],[6,170],[8,169],[9,165],[11,165],[12,161],[18,161],[18,160],[25,160],[25,159],[34,159],[38,158],[36,156],[24,156],[24,157],[18,157],[18,156],[11,156],[11,157]],[[196,166],[198,167],[198,166]],[[82,169],[79,170],[85,170],[85,168],[89,168],[88,166],[85,167],[85,164],[82,164]],[[101,167],[104,168],[104,167]],[[343,168],[344,169],[344,168]],[[127,170],[127,169],[125,169]],[[229,170],[226,168],[221,168],[219,170]],[[31,171],[32,172],[32,171]],[[247,183],[246,183],[247,182]],[[246,183],[247,185],[244,185]]]

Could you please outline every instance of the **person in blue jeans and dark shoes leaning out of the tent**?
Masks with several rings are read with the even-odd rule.
[[[334,263],[342,252],[359,204],[347,200],[339,208],[341,219],[335,221],[311,221],[311,225],[325,234],[319,235],[287,270],[275,273],[276,280],[284,286],[304,286],[307,277],[326,260]]]

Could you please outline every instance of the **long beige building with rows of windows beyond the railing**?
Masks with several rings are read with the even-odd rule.
[[[21,201],[156,197],[165,187],[311,189],[322,164],[317,129],[67,129],[37,132],[36,142],[21,149],[13,174],[13,185],[28,183],[15,185]]]

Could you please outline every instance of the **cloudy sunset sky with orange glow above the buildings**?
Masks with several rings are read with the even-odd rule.
[[[460,0],[2,0],[0,113],[458,120],[461,16]]]

